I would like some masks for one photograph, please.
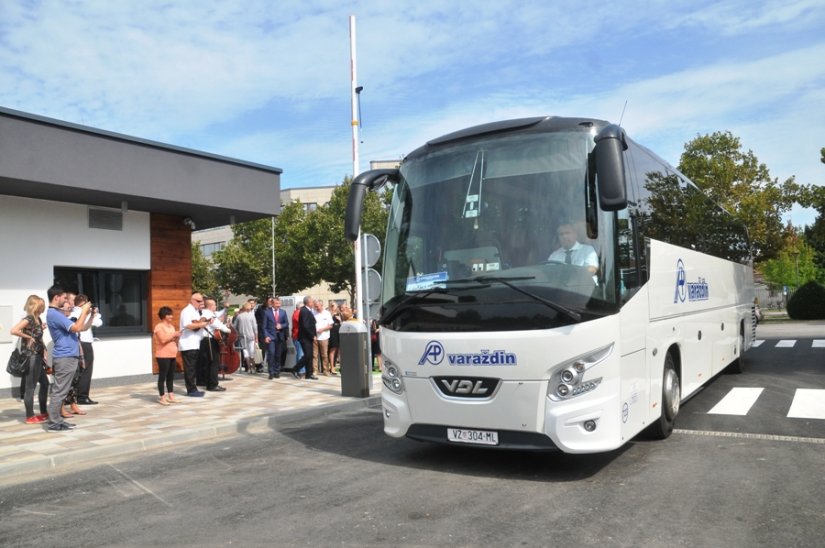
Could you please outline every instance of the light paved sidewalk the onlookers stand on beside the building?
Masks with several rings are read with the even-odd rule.
[[[44,424],[26,424],[23,402],[0,400],[0,483],[30,472],[60,472],[130,453],[171,447],[220,436],[273,429],[291,421],[347,409],[378,406],[381,379],[373,376],[370,396],[341,395],[341,377],[297,380],[291,374],[268,380],[266,374],[237,372],[224,382],[226,392],[206,392],[203,398],[186,397],[183,380],[175,382],[181,403],[157,403],[153,382],[113,387],[92,387],[98,405],[84,405],[83,416],[67,419],[76,424],[69,432],[46,432]],[[39,410],[35,394],[35,412]]]

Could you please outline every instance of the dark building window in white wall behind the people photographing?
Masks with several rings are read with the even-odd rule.
[[[147,279],[148,273],[142,270],[54,269],[57,285],[88,295],[100,311],[103,325],[95,328],[96,337],[147,332]]]

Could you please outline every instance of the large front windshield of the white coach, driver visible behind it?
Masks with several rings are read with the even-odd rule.
[[[549,329],[618,308],[614,213],[591,132],[510,133],[402,163],[381,321],[399,331]]]

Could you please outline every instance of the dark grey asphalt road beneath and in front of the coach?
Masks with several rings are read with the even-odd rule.
[[[664,441],[603,455],[442,447],[378,410],[0,489],[6,546],[822,546],[825,348],[766,340],[686,402]],[[763,388],[745,415],[709,415]]]

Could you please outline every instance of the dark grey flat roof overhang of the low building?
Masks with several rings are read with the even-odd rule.
[[[282,170],[0,107],[0,194],[190,217],[277,215]]]

